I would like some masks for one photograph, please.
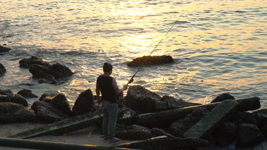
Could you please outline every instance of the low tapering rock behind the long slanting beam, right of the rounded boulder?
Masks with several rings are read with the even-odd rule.
[[[171,109],[189,107],[189,106],[194,106],[194,105],[200,105],[200,103],[187,102],[185,100],[178,99],[172,96],[167,96],[167,95],[162,96],[160,101],[152,99],[151,101],[149,101],[148,104],[149,104],[148,105],[149,112],[171,110]]]

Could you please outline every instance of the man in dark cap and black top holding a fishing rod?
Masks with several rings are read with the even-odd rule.
[[[96,83],[97,103],[102,103],[102,132],[104,133],[103,139],[108,139],[110,143],[120,141],[119,138],[114,137],[115,126],[118,116],[117,94],[120,94],[127,89],[127,85],[124,85],[122,88],[119,88],[116,79],[110,76],[112,73],[112,68],[113,66],[110,63],[105,62],[103,65],[104,74],[98,76]]]

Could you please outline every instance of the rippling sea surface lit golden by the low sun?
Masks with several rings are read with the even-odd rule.
[[[236,99],[258,96],[267,108],[266,0],[1,0],[0,5],[0,44],[12,48],[0,55],[7,69],[0,89],[31,89],[39,97],[63,93],[73,106],[83,90],[95,94],[104,62],[113,64],[122,87],[139,68],[127,63],[149,55],[163,38],[151,55],[171,55],[174,63],[142,67],[130,85],[203,104],[225,92]],[[58,84],[38,83],[28,68],[19,67],[32,55],[74,74]]]

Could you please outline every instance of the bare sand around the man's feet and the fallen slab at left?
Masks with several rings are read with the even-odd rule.
[[[25,123],[8,123],[8,124],[0,124],[0,137],[8,137],[10,135],[45,125],[44,123],[39,122],[25,122]],[[98,146],[106,146],[109,147],[113,143],[109,143],[108,140],[103,139],[103,134],[101,134],[101,127],[98,126],[90,126],[75,132],[68,133],[66,135],[60,136],[37,136],[31,137],[27,139],[32,140],[42,140],[42,141],[54,141],[54,142],[63,142],[63,143],[72,143],[72,144],[89,144],[89,145],[98,145]],[[123,140],[116,142],[129,142],[129,140]],[[16,147],[3,147],[0,146],[0,149],[27,149],[27,148],[16,148]]]

